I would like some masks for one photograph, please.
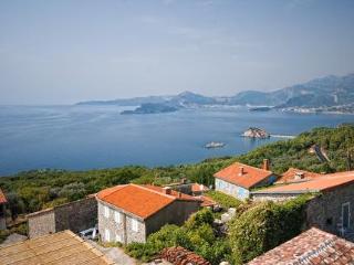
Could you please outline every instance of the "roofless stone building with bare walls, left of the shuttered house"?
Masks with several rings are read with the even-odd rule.
[[[63,230],[77,233],[93,227],[96,223],[97,202],[94,197],[28,215],[30,239]]]

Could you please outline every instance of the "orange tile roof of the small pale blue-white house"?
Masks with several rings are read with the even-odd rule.
[[[243,173],[241,174],[240,172],[242,168]],[[240,162],[235,162],[231,166],[215,173],[214,177],[243,187],[246,189],[250,189],[271,174],[273,174],[272,171],[254,168]]]

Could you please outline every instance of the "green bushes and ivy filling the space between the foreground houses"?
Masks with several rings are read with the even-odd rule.
[[[214,214],[204,209],[191,215],[183,226],[165,225],[150,234],[145,244],[132,243],[125,251],[142,262],[148,262],[165,247],[183,246],[211,264],[221,261],[243,264],[301,233],[304,229],[304,206],[310,198],[303,195],[285,203],[239,203],[236,216],[228,224],[228,236],[212,226]]]

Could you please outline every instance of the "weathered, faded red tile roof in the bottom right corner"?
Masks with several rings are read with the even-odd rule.
[[[354,243],[313,227],[248,263],[274,264],[354,264]]]

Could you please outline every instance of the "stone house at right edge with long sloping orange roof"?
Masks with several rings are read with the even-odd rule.
[[[253,201],[285,201],[313,193],[306,205],[306,226],[346,235],[354,229],[354,171],[323,174],[309,181],[258,190]]]

